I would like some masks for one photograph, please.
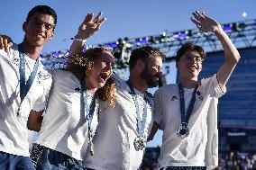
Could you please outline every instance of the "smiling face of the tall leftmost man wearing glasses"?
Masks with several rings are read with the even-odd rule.
[[[34,13],[23,23],[24,40],[33,47],[42,47],[54,35],[54,18],[50,14]]]

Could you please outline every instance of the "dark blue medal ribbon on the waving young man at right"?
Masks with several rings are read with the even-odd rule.
[[[193,111],[193,107],[196,103],[196,92],[197,87],[194,89],[194,92],[192,94],[192,98],[190,100],[190,103],[188,105],[187,113],[185,112],[185,99],[184,99],[184,89],[181,83],[178,83],[178,92],[179,92],[179,98],[180,98],[180,113],[181,113],[181,125],[182,127],[187,127],[188,121],[190,119],[191,113]]]

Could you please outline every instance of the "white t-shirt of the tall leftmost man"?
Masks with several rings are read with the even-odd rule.
[[[25,55],[25,79],[31,75],[35,60]],[[0,49],[0,151],[29,157],[27,120],[31,110],[42,111],[49,95],[51,76],[41,62],[21,111],[20,57],[18,45],[8,53]]]

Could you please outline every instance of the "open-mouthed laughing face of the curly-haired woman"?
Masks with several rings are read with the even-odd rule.
[[[104,51],[100,57],[94,60],[93,68],[86,77],[88,88],[101,88],[106,80],[112,75],[114,56],[109,51]]]

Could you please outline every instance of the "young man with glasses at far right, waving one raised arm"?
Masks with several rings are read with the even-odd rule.
[[[192,22],[201,31],[212,31],[224,48],[224,63],[211,77],[198,81],[206,52],[194,43],[178,49],[178,85],[165,85],[155,94],[154,126],[163,130],[159,164],[162,170],[212,169],[218,163],[218,98],[240,55],[221,25],[206,13],[193,13]]]

